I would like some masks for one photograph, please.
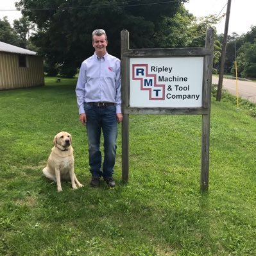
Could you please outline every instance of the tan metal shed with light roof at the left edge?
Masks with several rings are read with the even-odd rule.
[[[35,51],[0,42],[0,90],[44,85],[42,57]]]

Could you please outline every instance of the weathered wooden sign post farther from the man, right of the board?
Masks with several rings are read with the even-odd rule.
[[[212,87],[212,60],[214,48],[214,31],[207,30],[205,47],[210,49],[211,55],[205,56],[204,65],[204,85],[203,85],[203,108],[207,109],[207,114],[202,115],[201,134],[201,191],[208,191],[209,185],[209,149],[210,149],[210,100]]]

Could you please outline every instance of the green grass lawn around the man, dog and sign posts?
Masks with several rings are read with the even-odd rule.
[[[200,192],[200,115],[130,115],[130,179],[89,186],[76,80],[0,92],[0,255],[256,255],[255,105],[212,98],[209,192]],[[53,137],[73,135],[85,187],[42,176]]]

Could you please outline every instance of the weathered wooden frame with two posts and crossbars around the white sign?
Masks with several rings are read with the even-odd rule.
[[[129,176],[129,114],[171,114],[202,115],[201,129],[201,176],[200,189],[209,187],[209,146],[210,146],[210,99],[212,85],[212,62],[214,31],[209,28],[205,37],[205,47],[130,49],[129,32],[121,31],[121,80],[122,80],[122,179]],[[130,58],[160,57],[203,57],[203,85],[201,107],[130,107]]]

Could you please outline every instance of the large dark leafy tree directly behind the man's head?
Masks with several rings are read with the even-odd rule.
[[[81,61],[92,55],[92,31],[104,28],[108,52],[120,56],[120,31],[130,31],[131,47],[154,47],[154,35],[164,15],[172,17],[187,0],[99,1],[99,0],[20,0],[23,15],[37,24],[33,42],[46,62],[58,64],[62,71],[76,71]]]

